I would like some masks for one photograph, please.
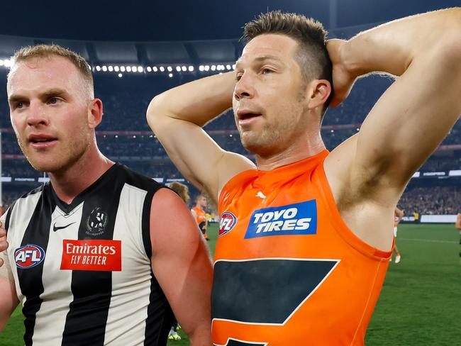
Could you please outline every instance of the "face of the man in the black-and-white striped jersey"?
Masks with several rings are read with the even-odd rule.
[[[89,96],[64,57],[34,58],[11,69],[7,92],[19,146],[35,169],[62,172],[87,151]]]

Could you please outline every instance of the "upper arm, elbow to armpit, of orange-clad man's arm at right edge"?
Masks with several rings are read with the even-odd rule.
[[[445,138],[461,111],[460,68],[414,61],[382,95],[357,138],[355,167],[403,186]]]

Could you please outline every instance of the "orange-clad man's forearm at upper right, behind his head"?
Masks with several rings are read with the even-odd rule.
[[[370,72],[403,74],[411,62],[438,49],[448,35],[460,37],[461,9],[402,18],[356,35],[341,49],[345,68],[357,77]]]

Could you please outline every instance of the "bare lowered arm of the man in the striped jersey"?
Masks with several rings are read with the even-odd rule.
[[[154,272],[191,346],[211,345],[211,258],[184,202],[168,189],[152,199]]]

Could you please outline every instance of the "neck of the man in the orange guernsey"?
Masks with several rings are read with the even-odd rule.
[[[309,140],[299,140],[284,150],[271,153],[267,156],[256,155],[256,166],[261,171],[271,171],[277,167],[286,166],[293,162],[304,160],[326,150],[320,134],[311,137]]]

